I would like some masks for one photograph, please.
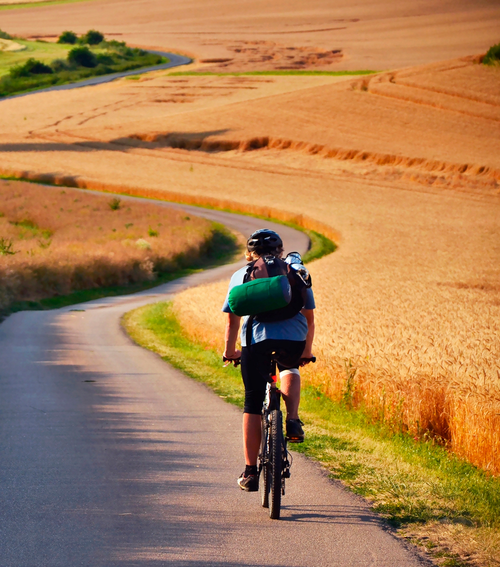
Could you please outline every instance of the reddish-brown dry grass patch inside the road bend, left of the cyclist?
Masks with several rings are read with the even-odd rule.
[[[209,221],[153,204],[0,181],[0,310],[154,280],[196,260],[211,230]]]

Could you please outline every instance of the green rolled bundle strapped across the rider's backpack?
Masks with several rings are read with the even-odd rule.
[[[228,298],[231,311],[238,316],[279,309],[287,306],[290,301],[291,287],[286,276],[257,278],[234,286]]]

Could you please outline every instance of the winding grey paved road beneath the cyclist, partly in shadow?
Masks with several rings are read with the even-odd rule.
[[[263,224],[195,209],[245,233]],[[277,228],[304,251],[302,234]],[[239,409],[122,331],[126,311],[234,269],[0,325],[1,567],[422,564],[300,455],[270,520],[236,486]]]

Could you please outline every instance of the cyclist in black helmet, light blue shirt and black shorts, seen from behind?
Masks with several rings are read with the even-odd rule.
[[[311,287],[306,290],[303,308],[289,319],[260,322],[250,318],[252,328],[247,332],[249,317],[245,316],[240,337],[241,351],[236,350],[241,317],[231,311],[228,303],[229,291],[234,286],[243,284],[245,276],[248,278],[249,270],[256,269],[256,264],[259,269],[260,259],[267,258],[269,261],[269,256],[281,258],[282,254],[283,243],[276,232],[267,229],[253,232],[247,241],[247,252],[245,253],[250,263],[233,274],[228,295],[222,307],[222,311],[227,313],[224,357],[230,360],[241,357],[241,376],[245,386],[243,446],[246,466],[238,479],[238,485],[241,490],[247,492],[259,490],[257,458],[261,443],[261,412],[273,356],[278,362],[280,390],[286,405],[286,435],[290,441],[302,442],[304,440],[303,423],[298,414],[300,401],[298,369],[299,366],[307,364],[306,361],[301,362],[301,359],[312,357],[313,310],[316,306]],[[300,260],[299,255],[296,257]],[[282,260],[281,263],[285,264]],[[262,265],[262,260],[260,260],[260,265]],[[247,344],[247,338],[250,336],[251,342]]]

